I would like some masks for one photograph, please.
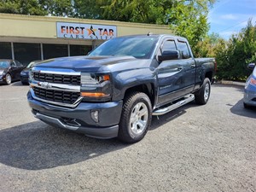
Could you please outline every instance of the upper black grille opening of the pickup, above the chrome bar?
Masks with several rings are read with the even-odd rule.
[[[79,75],[61,75],[34,72],[33,78],[37,81],[44,81],[55,84],[80,85],[81,82],[81,77]]]

